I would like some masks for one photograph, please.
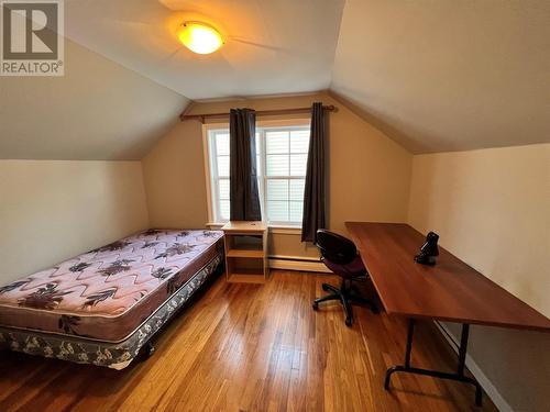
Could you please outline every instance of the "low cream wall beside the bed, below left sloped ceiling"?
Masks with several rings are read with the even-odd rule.
[[[0,160],[0,283],[147,225],[140,162]]]

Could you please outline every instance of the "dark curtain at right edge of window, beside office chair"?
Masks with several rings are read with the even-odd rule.
[[[322,103],[314,103],[311,109],[311,133],[304,191],[304,218],[301,242],[316,242],[317,230],[324,229],[324,143],[327,138],[327,115]]]

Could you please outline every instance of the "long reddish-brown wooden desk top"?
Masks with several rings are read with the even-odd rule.
[[[345,222],[387,313],[550,331],[550,320],[439,246],[414,261],[425,236],[408,224]]]

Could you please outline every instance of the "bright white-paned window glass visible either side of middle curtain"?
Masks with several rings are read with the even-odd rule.
[[[262,216],[272,225],[300,226],[309,149],[309,124],[256,126],[256,167]],[[207,130],[211,219],[229,220],[229,129]]]

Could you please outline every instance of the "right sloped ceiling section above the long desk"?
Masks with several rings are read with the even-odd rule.
[[[550,1],[348,0],[331,90],[414,153],[550,142]]]

